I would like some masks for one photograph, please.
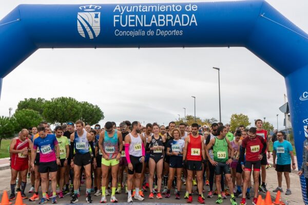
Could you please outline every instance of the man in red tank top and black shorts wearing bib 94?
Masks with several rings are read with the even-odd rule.
[[[204,203],[201,197],[203,189],[202,159],[205,160],[204,137],[198,134],[198,124],[194,123],[191,125],[191,134],[185,138],[185,147],[183,150],[183,165],[187,169],[186,188],[189,194],[187,199],[188,203],[192,202],[191,183],[192,173],[194,171],[196,171],[198,181],[198,202]]]

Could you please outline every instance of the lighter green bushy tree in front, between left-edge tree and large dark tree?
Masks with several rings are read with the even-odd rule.
[[[15,120],[15,131],[19,132],[22,129],[36,127],[43,120],[42,115],[34,110],[17,110],[13,118]]]

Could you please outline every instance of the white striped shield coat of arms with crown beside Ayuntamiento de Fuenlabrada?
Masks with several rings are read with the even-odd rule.
[[[79,34],[88,39],[96,38],[100,35],[101,12],[98,12],[102,7],[95,5],[81,6],[77,14],[77,28]]]

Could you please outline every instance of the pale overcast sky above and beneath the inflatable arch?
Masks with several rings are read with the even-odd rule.
[[[2,1],[0,19],[19,4],[88,4],[89,1]],[[189,1],[90,1],[104,3]],[[209,2],[197,1],[194,2]],[[210,1],[213,2],[213,1]],[[267,1],[295,25],[308,31],[308,1]],[[90,62],[90,63],[89,63]],[[219,119],[218,71],[222,122],[233,113],[283,128],[284,78],[245,48],[41,49],[3,80],[0,115],[15,111],[24,98],[67,96],[98,105],[106,121],[139,120],[168,124],[186,115]]]

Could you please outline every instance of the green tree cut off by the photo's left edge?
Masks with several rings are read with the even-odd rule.
[[[0,117],[0,147],[2,139],[13,137],[15,134],[15,123],[11,117]]]

